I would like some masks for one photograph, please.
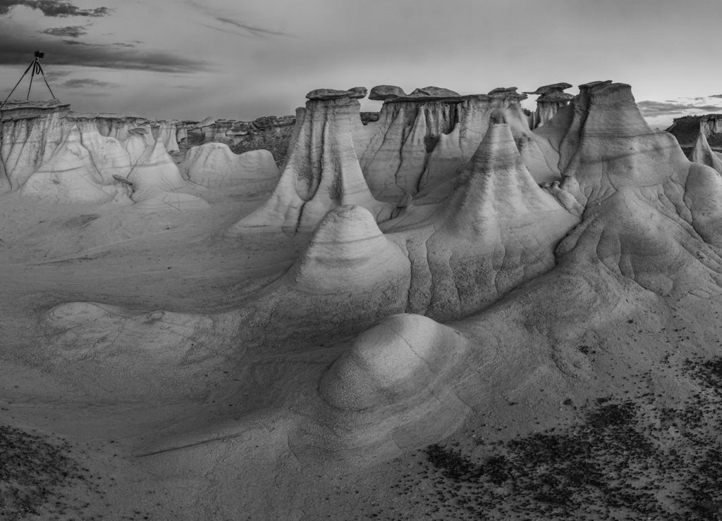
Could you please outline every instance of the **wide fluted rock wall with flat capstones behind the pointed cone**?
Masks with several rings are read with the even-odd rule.
[[[378,121],[357,138],[361,168],[378,197],[424,192],[451,179],[471,159],[492,114],[503,113],[521,154],[539,182],[559,177],[556,153],[529,129],[516,87],[461,96],[439,87],[404,94],[381,85],[371,99],[383,99]]]

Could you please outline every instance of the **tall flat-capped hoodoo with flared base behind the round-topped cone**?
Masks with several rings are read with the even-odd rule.
[[[235,223],[228,233],[249,228],[312,230],[323,215],[342,205],[366,208],[377,222],[391,216],[394,205],[371,195],[361,172],[352,138],[359,120],[360,87],[349,91],[318,89],[308,93],[282,174],[269,200]]]

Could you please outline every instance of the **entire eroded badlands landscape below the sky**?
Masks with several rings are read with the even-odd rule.
[[[710,118],[566,89],[5,107],[0,515],[719,519]]]

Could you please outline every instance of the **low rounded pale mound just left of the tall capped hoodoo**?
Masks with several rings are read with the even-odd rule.
[[[256,192],[271,190],[279,178],[273,154],[253,150],[235,154],[225,143],[205,143],[188,151],[181,175],[204,187]]]

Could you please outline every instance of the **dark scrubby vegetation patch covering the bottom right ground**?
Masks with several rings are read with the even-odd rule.
[[[722,357],[683,373],[700,392],[676,406],[604,397],[565,429],[430,445],[394,488],[437,520],[722,521]]]

